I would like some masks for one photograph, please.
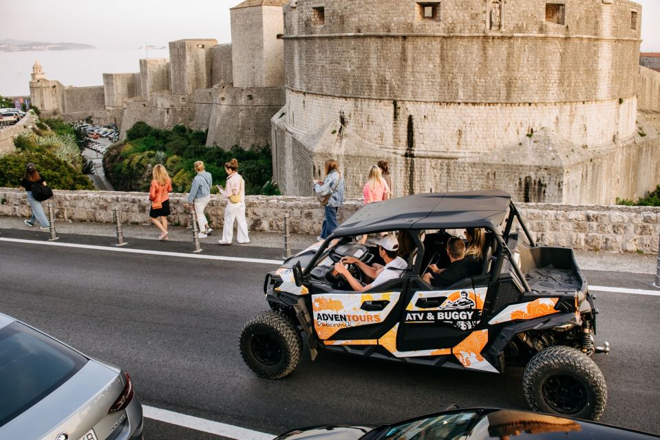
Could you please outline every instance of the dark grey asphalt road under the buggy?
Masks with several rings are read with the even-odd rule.
[[[279,254],[237,246],[217,252]],[[0,311],[123,366],[143,404],[262,432],[391,422],[451,404],[526,408],[522,369],[488,375],[334,353],[311,362],[306,351],[286,379],[259,379],[242,362],[238,337],[266,309],[262,285],[273,268],[0,242]],[[586,276],[591,285],[641,289],[653,280],[617,272]],[[597,342],[612,347],[595,358],[608,384],[602,421],[660,434],[660,296],[601,293],[597,307]],[[219,438],[151,420],[146,429],[149,440]]]

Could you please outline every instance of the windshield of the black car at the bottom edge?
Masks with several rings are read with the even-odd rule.
[[[459,440],[467,438],[477,412],[451,412],[387,428],[379,440]]]

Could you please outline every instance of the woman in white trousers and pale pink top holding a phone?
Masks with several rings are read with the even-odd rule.
[[[217,189],[220,190],[220,194],[227,197],[227,206],[224,208],[222,239],[218,240],[217,243],[231,245],[234,235],[234,220],[237,222],[237,243],[250,243],[248,222],[245,219],[245,181],[238,173],[238,161],[231,159],[231,161],[226,162],[224,170],[227,173],[226,188],[218,185]]]

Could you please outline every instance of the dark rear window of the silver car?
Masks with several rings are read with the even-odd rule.
[[[56,390],[87,362],[19,322],[0,329],[0,426]]]

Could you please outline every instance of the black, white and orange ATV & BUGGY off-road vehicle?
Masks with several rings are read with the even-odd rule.
[[[485,231],[480,273],[449,287],[427,284],[423,274],[447,265],[450,232],[462,228]],[[366,238],[383,233],[398,235],[407,267],[354,292],[334,265],[346,256],[376,262],[379,252]],[[348,271],[362,276],[355,263]],[[536,245],[500,190],[365,205],[328,239],[267,274],[264,293],[270,310],[249,321],[239,341],[261,377],[294,371],[305,336],[312,360],[328,350],[488,373],[524,366],[533,410],[597,420],[606,406],[605,379],[591,357],[609,344],[595,346],[597,310],[573,250]]]

